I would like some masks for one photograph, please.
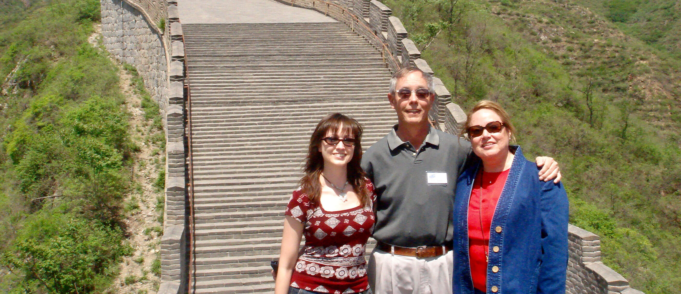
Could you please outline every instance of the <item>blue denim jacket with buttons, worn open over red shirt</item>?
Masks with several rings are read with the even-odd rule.
[[[519,146],[490,230],[487,293],[565,293],[568,202],[560,183],[540,181]],[[468,207],[481,163],[460,175],[454,199],[454,294],[472,294]],[[501,228],[501,230],[499,230]],[[501,231],[498,233],[498,231]],[[499,247],[498,252],[492,248]],[[498,267],[494,273],[492,267]],[[496,286],[496,291],[493,286]]]

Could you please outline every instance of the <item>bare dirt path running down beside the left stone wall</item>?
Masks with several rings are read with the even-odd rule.
[[[95,25],[95,33],[89,42],[101,48],[101,25]],[[133,164],[133,188],[125,196],[126,241],[133,248],[131,256],[125,256],[120,263],[120,273],[112,282],[108,293],[156,293],[161,282],[160,256],[161,235],[163,235],[163,191],[154,186],[159,172],[165,168],[165,149],[159,136],[165,138],[163,130],[153,125],[153,120],[144,119],[142,98],[133,80],[136,78],[118,66],[118,85],[125,96],[125,106],[130,113],[130,135],[140,151],[135,153]],[[159,134],[160,133],[160,134]]]

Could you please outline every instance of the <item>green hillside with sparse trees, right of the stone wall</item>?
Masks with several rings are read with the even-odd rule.
[[[644,40],[641,23],[612,23],[616,1],[382,2],[454,102],[501,102],[528,158],[560,162],[571,223],[603,237],[605,264],[646,293],[679,293],[678,26]],[[658,22],[650,2],[631,1],[631,19]]]

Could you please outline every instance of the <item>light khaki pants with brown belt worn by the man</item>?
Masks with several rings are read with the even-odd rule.
[[[374,249],[367,274],[374,294],[452,294],[452,251],[417,259]]]

